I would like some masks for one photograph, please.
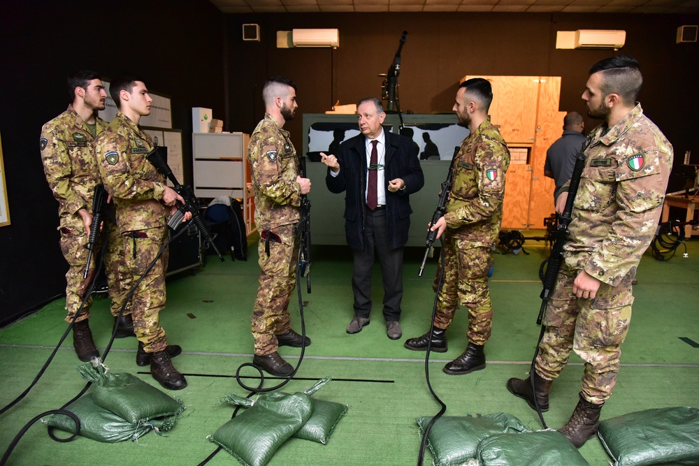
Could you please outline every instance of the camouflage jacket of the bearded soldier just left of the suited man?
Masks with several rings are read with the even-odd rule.
[[[301,217],[301,187],[296,182],[298,159],[289,131],[265,115],[247,145],[247,161],[255,192],[255,224],[268,230],[295,224]]]

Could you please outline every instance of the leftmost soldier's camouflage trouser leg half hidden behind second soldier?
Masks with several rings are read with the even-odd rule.
[[[109,298],[112,301],[110,312],[113,316],[119,315],[124,300],[126,300],[131,286],[134,286],[133,275],[129,272],[126,262],[126,254],[124,253],[124,239],[117,229],[117,225],[113,220],[105,220],[103,228],[106,228],[108,234],[107,250],[104,256],[104,269],[107,276],[107,288],[109,290]],[[131,301],[124,309],[124,316],[131,314]]]

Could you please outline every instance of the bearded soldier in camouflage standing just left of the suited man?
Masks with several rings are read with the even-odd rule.
[[[298,238],[294,227],[301,218],[301,195],[310,191],[310,180],[299,173],[298,158],[284,123],[294,117],[296,85],[286,78],[268,80],[262,91],[265,117],[247,146],[255,194],[255,224],[260,231],[259,289],[252,311],[254,357],[252,361],[273,375],[294,372],[279,355],[278,347],[310,344],[291,329],[289,300],[296,285]]]

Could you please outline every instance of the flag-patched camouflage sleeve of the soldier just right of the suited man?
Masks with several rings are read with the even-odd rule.
[[[503,208],[507,167],[505,148],[497,141],[485,140],[478,147],[474,161],[477,170],[477,195],[466,200],[454,201],[454,207],[444,216],[448,228],[475,224],[492,217]]]

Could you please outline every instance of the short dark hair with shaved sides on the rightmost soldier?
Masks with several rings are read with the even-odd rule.
[[[628,55],[619,55],[598,61],[590,67],[590,74],[600,73],[602,96],[619,94],[624,103],[635,103],[641,92],[643,76],[638,61]]]

